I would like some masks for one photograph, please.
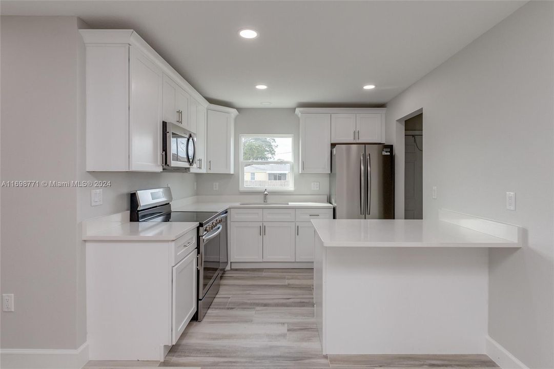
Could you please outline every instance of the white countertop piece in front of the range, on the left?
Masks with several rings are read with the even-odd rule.
[[[174,241],[198,227],[196,222],[130,222],[83,235],[84,240]]]

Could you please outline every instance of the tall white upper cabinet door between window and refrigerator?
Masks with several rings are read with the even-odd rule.
[[[300,116],[300,173],[331,173],[331,115]]]

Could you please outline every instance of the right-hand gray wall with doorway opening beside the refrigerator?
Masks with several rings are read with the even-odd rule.
[[[490,251],[489,335],[531,368],[554,367],[553,56],[554,3],[530,2],[387,104],[398,213],[404,136],[396,120],[423,108],[424,218],[445,208],[529,233],[521,250]],[[517,193],[515,212],[506,210],[507,191]]]

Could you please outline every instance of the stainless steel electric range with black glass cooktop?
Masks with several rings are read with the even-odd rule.
[[[221,274],[228,264],[227,211],[171,211],[169,187],[131,193],[131,222],[198,222],[198,306],[193,320],[203,319],[219,291]]]

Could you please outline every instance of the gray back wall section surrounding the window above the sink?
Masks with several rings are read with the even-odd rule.
[[[197,176],[199,195],[252,194],[239,192],[239,136],[244,134],[294,135],[294,160],[300,157],[300,120],[294,109],[239,109],[235,119],[235,172],[233,175],[207,174]],[[329,194],[329,175],[300,174],[294,166],[294,191],[281,194]],[[213,182],[219,183],[219,190],[213,190]],[[311,182],[319,182],[319,191],[311,189]],[[272,194],[279,193],[275,190]],[[259,192],[255,192],[259,193]],[[261,195],[260,195],[261,196]]]

